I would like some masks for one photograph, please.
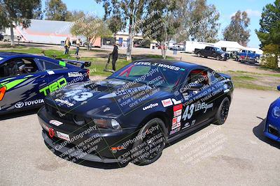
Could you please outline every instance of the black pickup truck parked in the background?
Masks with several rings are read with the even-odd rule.
[[[205,47],[204,49],[195,49],[195,54],[197,54],[197,56],[199,57],[214,57],[216,60],[224,61],[230,58],[227,53],[223,52],[223,50],[218,47]]]

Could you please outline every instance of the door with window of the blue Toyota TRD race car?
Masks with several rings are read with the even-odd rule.
[[[38,93],[45,75],[32,58],[10,59],[0,65],[0,112],[42,104]]]

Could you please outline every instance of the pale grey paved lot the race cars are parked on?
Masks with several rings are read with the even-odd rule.
[[[280,144],[262,135],[261,119],[277,97],[235,89],[224,125],[171,144],[149,166],[123,168],[58,158],[45,146],[34,112],[1,117],[0,185],[280,185]]]

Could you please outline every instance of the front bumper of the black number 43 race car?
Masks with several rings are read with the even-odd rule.
[[[51,120],[63,124],[56,126],[50,124]],[[127,141],[132,141],[131,139],[137,135],[135,128],[111,132],[95,130],[96,128],[93,127],[92,130],[89,130],[88,127],[73,128],[73,124],[48,115],[45,107],[38,111],[38,121],[43,128],[43,139],[49,148],[53,152],[62,153],[62,157],[74,157],[76,160],[104,163],[122,162],[126,158],[124,154],[133,146],[132,142],[127,143]],[[52,137],[49,134],[50,128],[54,131]],[[61,137],[59,133],[65,134],[67,139]],[[125,144],[124,148],[111,150],[111,147],[120,147],[123,144]]]

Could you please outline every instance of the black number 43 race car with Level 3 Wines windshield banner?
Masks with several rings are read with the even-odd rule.
[[[225,123],[230,76],[183,61],[134,61],[99,82],[50,93],[38,111],[43,138],[61,157],[151,164],[165,144]]]

